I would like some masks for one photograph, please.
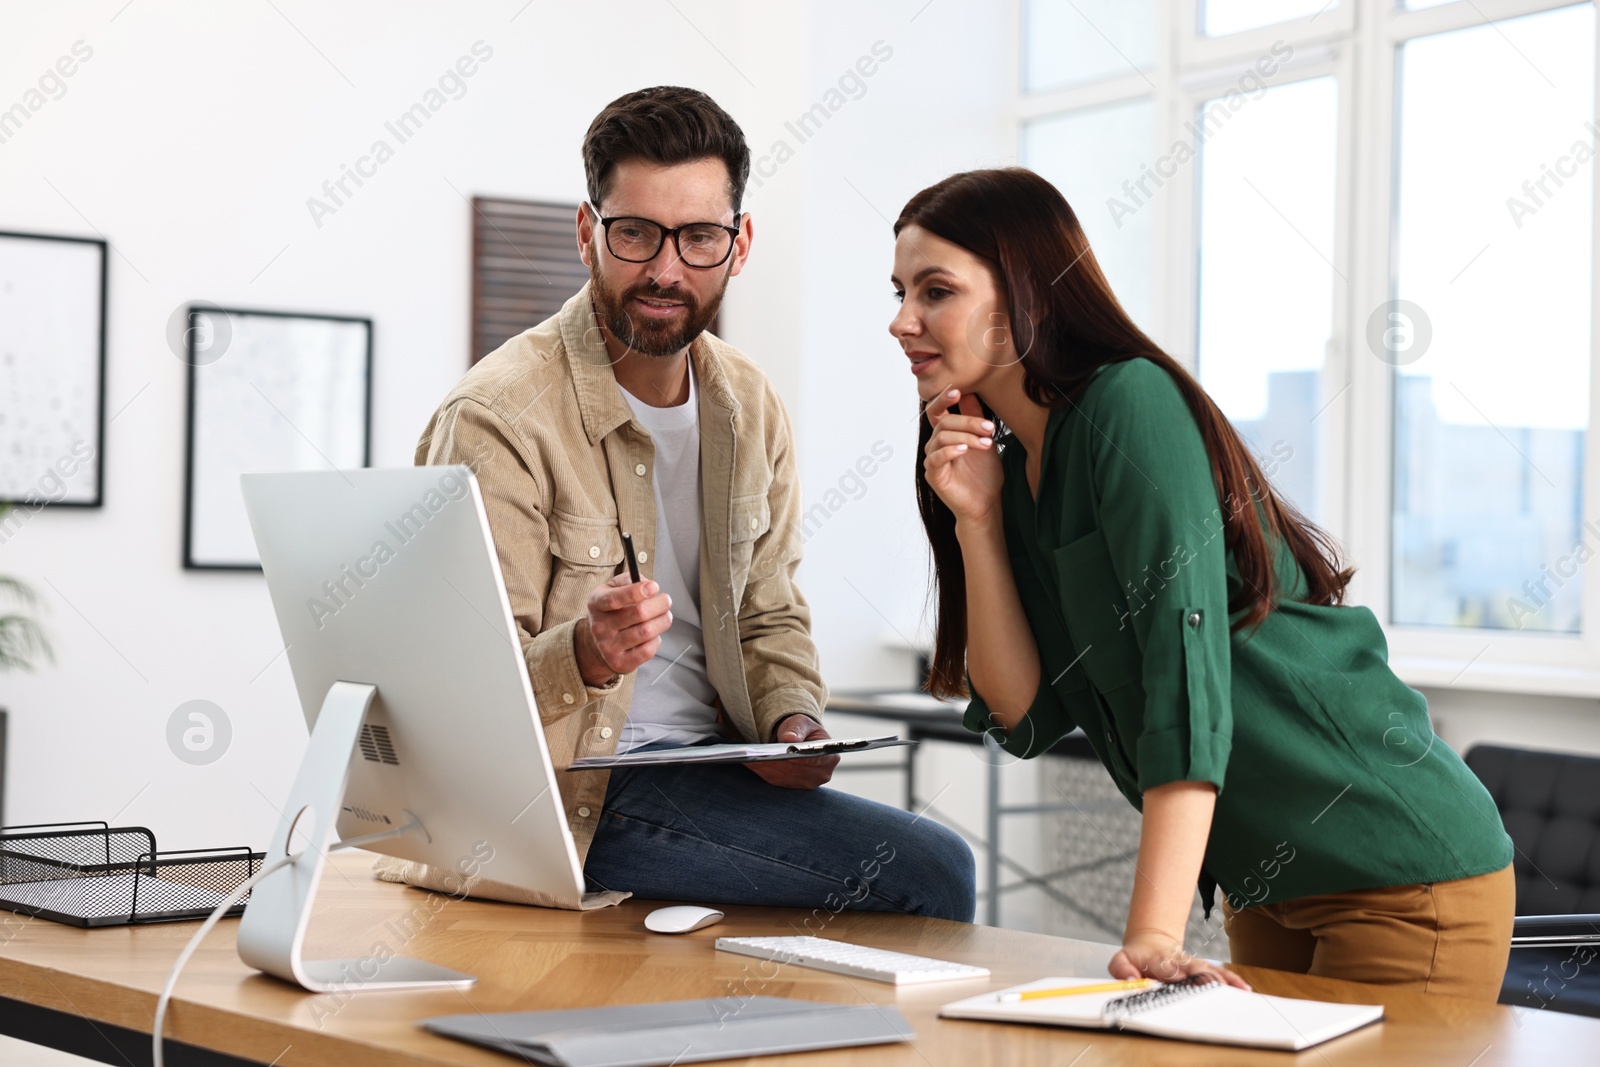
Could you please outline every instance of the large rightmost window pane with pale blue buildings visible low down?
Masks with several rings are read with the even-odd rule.
[[[1581,632],[1594,61],[1587,3],[1400,50],[1394,622]]]

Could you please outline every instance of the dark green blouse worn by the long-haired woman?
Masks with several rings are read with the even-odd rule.
[[[1037,502],[1021,443],[1002,442],[1006,547],[1042,681],[1010,734],[974,689],[968,729],[1034,757],[1082,726],[1134,808],[1165,782],[1214,784],[1208,907],[1211,881],[1242,907],[1510,862],[1494,801],[1389,670],[1370,609],[1296,600],[1304,574],[1280,547],[1282,603],[1229,632],[1242,579],[1166,371],[1102,366],[1051,413]]]

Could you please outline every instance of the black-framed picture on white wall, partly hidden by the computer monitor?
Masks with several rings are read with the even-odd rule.
[[[184,566],[259,571],[238,475],[371,462],[373,320],[189,306]]]

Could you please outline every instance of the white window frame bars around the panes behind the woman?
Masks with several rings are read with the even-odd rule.
[[[1018,152],[1022,123],[1061,112],[1136,98],[1157,104],[1152,154],[1173,144],[1182,123],[1219,86],[1238,75],[1278,40],[1294,48],[1270,85],[1331,75],[1339,98],[1334,189],[1334,330],[1323,362],[1325,414],[1318,418],[1325,525],[1358,565],[1347,603],[1365,605],[1389,638],[1390,665],[1411,685],[1462,689],[1600,696],[1600,558],[1579,569],[1582,632],[1533,635],[1496,629],[1395,625],[1390,617],[1394,384],[1395,368],[1365,352],[1366,314],[1389,299],[1398,200],[1397,70],[1400,48],[1414,38],[1523,14],[1576,6],[1574,0],[1454,0],[1406,11],[1397,0],[1336,0],[1318,16],[1293,19],[1227,37],[1200,34],[1203,0],[1162,0],[1157,66],[1102,82],[1048,93],[1024,91],[1022,32],[1029,0],[1011,0],[1018,64],[1013,130]],[[1594,0],[1578,0],[1590,2]],[[1597,32],[1600,50],[1600,32]],[[1595,78],[1600,117],[1600,62]],[[1592,166],[1600,166],[1595,160]],[[1150,264],[1160,285],[1152,293],[1152,334],[1194,370],[1198,344],[1198,174],[1200,160],[1150,203]],[[1590,234],[1590,395],[1584,437],[1582,520],[1600,526],[1600,174],[1594,178]]]

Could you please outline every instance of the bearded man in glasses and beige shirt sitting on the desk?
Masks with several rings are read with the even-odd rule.
[[[590,282],[485,357],[419,464],[474,464],[590,889],[971,921],[973,856],[819,789],[838,757],[565,771],[714,737],[827,737],[794,584],[800,488],[771,384],[706,333],[750,254],[750,152],[709,96],[651,88],[584,139]],[[643,581],[622,571],[630,533]]]

